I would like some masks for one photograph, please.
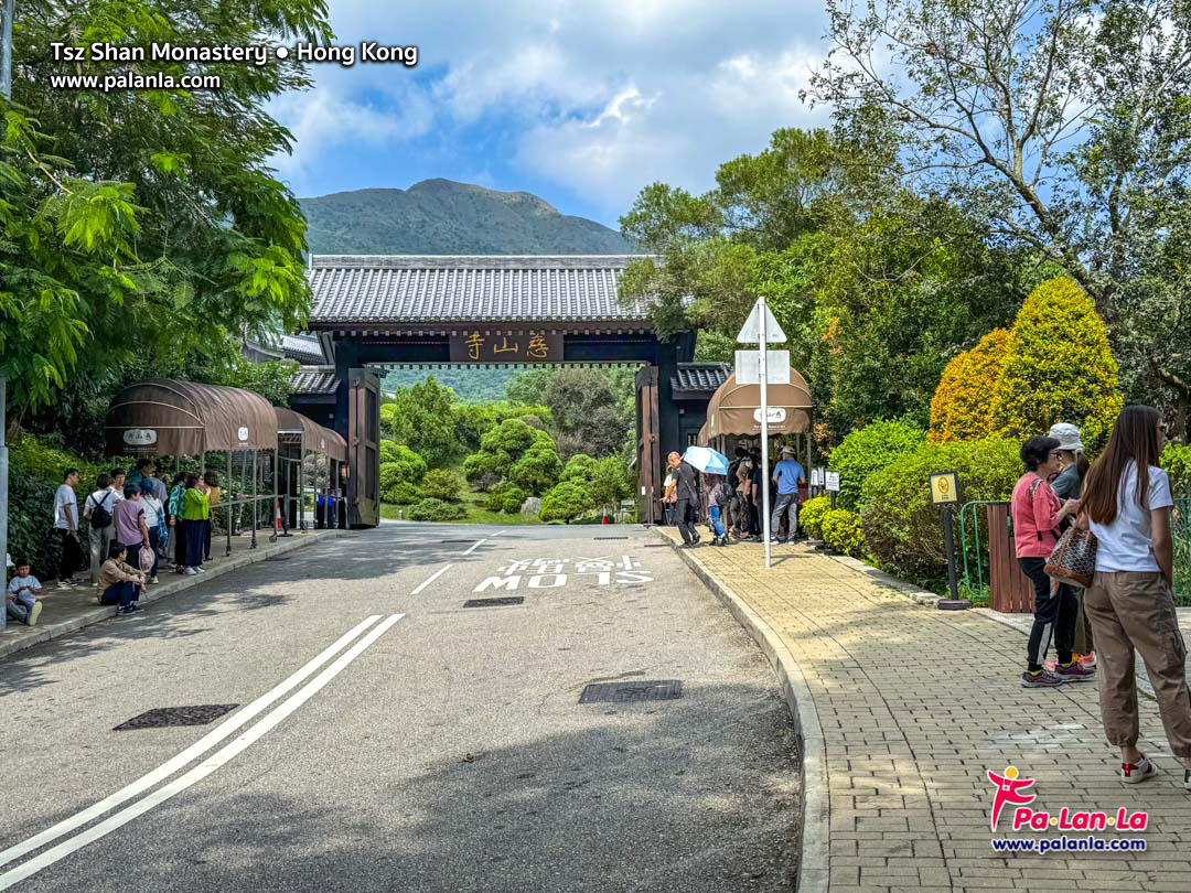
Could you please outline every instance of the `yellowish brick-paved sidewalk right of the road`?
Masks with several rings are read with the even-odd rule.
[[[1018,630],[916,605],[807,547],[773,554],[767,572],[760,545],[686,552],[780,636],[810,689],[829,788],[830,893],[1191,891],[1191,793],[1153,700],[1141,702],[1140,747],[1162,772],[1125,786],[1096,685],[1022,688]],[[1148,850],[994,854],[985,772],[1010,764],[1036,779],[1034,808],[1148,810]]]

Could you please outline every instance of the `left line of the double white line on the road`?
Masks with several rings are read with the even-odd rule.
[[[366,629],[372,626],[381,618],[381,614],[373,614],[372,617],[362,620],[356,626],[354,626],[348,632],[343,633],[335,644],[319,654],[314,660],[310,661],[306,666],[299,669],[297,673],[286,679],[281,685],[276,686],[272,691],[262,694],[255,701],[249,704],[243,710],[232,713],[224,723],[212,729],[210,732],[204,735],[191,747],[183,750],[177,756],[166,761],[160,767],[152,772],[142,775],[139,779],[130,785],[117,791],[114,794],[105,797],[102,800],[96,803],[94,806],[89,806],[82,812],[75,813],[68,819],[63,819],[58,824],[45,829],[40,833],[33,835],[27,841],[23,841],[14,847],[0,851],[0,866],[5,866],[12,862],[14,858],[20,858],[26,853],[32,853],[40,847],[44,847],[50,841],[55,841],[76,828],[86,825],[92,819],[102,816],[108,810],[113,810],[123,803],[131,800],[135,797],[139,797],[142,793],[154,787],[157,782],[169,778],[175,772],[181,769],[183,766],[197,760],[199,756],[211,750],[216,744],[222,742],[224,738],[231,736],[237,729],[242,727],[249,723],[257,714],[262,713],[266,707],[273,704],[275,700],[285,697],[294,688],[297,688],[303,681],[306,680],[314,670],[331,660],[338,651],[341,651],[345,645],[348,645],[356,636],[363,632]],[[2,889],[2,888],[0,888]]]

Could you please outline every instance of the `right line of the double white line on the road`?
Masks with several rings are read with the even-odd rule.
[[[252,742],[263,737],[267,732],[274,729],[282,719],[293,713],[298,707],[313,698],[319,689],[322,689],[328,682],[335,679],[339,672],[351,663],[356,657],[364,652],[364,650],[372,645],[376,639],[384,636],[389,627],[400,620],[405,614],[389,614],[379,626],[374,627],[368,635],[362,639],[356,642],[351,648],[344,651],[330,667],[324,669],[313,680],[307,682],[303,688],[298,691],[297,694],[291,695],[286,699],[281,706],[269,713],[264,719],[254,725],[247,732],[241,735],[236,741],[225,748],[216,751],[213,755],[208,756],[201,763],[195,766],[185,775],[174,779],[164,787],[160,787],[151,794],[142,800],[127,806],[113,816],[108,816],[106,819],[100,822],[81,833],[75,835],[68,841],[63,841],[57,847],[48,849],[42,855],[29,860],[24,864],[18,866],[5,874],[0,875],[0,889],[8,889],[14,883],[19,883],[26,878],[37,874],[43,868],[46,868],[58,860],[69,856],[71,853],[82,849],[88,843],[98,841],[118,828],[126,825],[132,819],[143,816],[149,812],[155,806],[158,806],[166,800],[169,800],[175,794],[180,794],[186,788],[191,787],[195,782],[201,781],[216,769],[231,762],[236,756],[242,754]]]

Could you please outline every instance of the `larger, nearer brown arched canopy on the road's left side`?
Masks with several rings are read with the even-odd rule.
[[[107,407],[104,429],[112,456],[278,448],[278,417],[260,394],[173,379],[149,379],[120,391]]]

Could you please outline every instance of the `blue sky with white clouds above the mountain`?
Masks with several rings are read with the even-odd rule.
[[[330,0],[338,42],[418,46],[418,64],[312,65],[273,112],[295,135],[274,160],[299,195],[447,177],[524,189],[616,226],[661,180],[712,185],[719,162],[781,126],[825,123],[798,101],[825,51],[803,0]]]

